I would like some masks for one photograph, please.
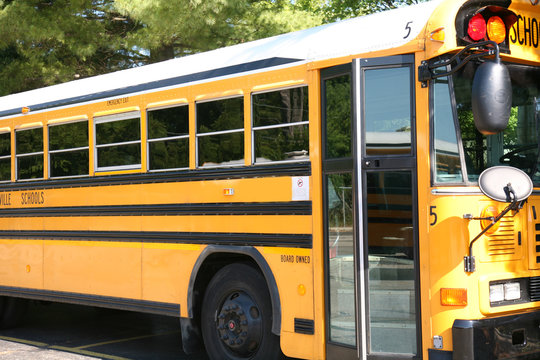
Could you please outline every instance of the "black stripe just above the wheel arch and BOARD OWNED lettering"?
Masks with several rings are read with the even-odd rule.
[[[2,230],[0,239],[141,242],[311,249],[311,234],[205,233],[163,231],[41,231]]]

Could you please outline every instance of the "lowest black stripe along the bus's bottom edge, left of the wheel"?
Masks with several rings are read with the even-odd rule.
[[[69,304],[99,306],[111,309],[146,312],[180,317],[180,305],[156,301],[134,300],[110,296],[78,294],[71,292],[25,289],[0,286],[0,296],[12,296],[33,300],[63,302]]]

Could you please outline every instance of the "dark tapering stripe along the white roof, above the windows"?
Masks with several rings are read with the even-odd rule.
[[[49,101],[49,102],[41,103],[41,104],[26,104],[25,106],[30,107],[32,111],[39,111],[39,110],[51,109],[51,108],[60,107],[60,106],[69,106],[69,105],[75,105],[75,104],[85,103],[89,101],[97,101],[101,99],[120,97],[120,96],[138,93],[138,92],[157,90],[160,88],[165,88],[165,87],[170,87],[170,86],[178,86],[178,85],[187,84],[194,81],[208,80],[208,79],[222,77],[222,76],[240,74],[240,73],[248,72],[248,71],[261,70],[261,69],[265,69],[265,68],[269,68],[273,66],[291,64],[298,61],[302,61],[302,60],[273,57],[273,58],[268,58],[268,59],[263,59],[263,60],[251,61],[244,64],[231,65],[231,66],[226,66],[222,68],[201,71],[198,73],[193,73],[193,74],[188,74],[188,75],[176,76],[169,79],[151,81],[151,82],[139,84],[139,85],[126,86],[122,88],[106,90],[106,91],[93,93],[93,94],[74,96],[74,97],[55,100],[55,101]],[[22,108],[14,108],[14,109],[0,111],[0,117],[18,115],[21,113],[22,113]]]

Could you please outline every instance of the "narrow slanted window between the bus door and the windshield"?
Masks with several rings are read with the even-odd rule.
[[[434,181],[460,183],[461,160],[459,157],[454,112],[450,102],[448,80],[433,81],[433,147],[435,150]]]

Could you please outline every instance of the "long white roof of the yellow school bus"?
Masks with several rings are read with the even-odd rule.
[[[443,0],[362,16],[156,64],[0,97],[0,117],[398,47]]]

